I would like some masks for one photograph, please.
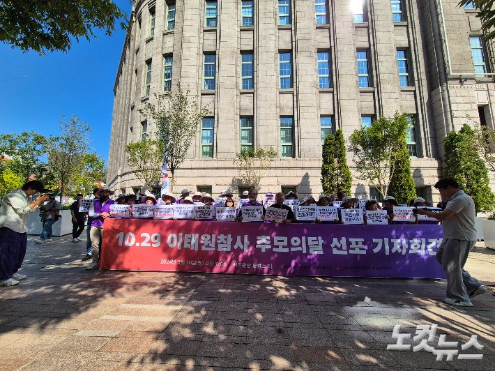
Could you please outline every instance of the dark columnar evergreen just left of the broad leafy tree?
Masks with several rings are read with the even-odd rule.
[[[341,129],[335,135],[327,135],[323,144],[321,164],[321,186],[326,195],[343,190],[351,194],[352,175],[347,165],[344,133]]]

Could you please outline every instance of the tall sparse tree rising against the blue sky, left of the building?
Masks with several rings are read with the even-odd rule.
[[[91,126],[86,121],[80,121],[75,115],[69,122],[66,122],[65,115],[62,118],[59,121],[61,135],[50,142],[48,149],[48,166],[59,183],[60,200],[70,181],[81,171],[91,142]]]

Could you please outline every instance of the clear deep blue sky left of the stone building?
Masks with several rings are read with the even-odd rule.
[[[130,14],[128,0],[116,3]],[[0,43],[0,133],[33,130],[56,136],[61,114],[66,121],[75,114],[93,129],[91,146],[108,158],[113,89],[125,32],[119,22],[112,37],[95,33],[97,40],[74,40],[68,52],[45,56]]]

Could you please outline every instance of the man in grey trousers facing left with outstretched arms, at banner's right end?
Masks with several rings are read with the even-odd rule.
[[[469,252],[477,241],[475,204],[455,179],[442,179],[436,182],[435,188],[449,199],[446,209],[441,213],[418,209],[417,213],[443,221],[445,238],[436,252],[436,260],[442,264],[447,277],[447,297],[443,301],[451,305],[472,307],[471,298],[488,291],[482,282],[464,271]]]

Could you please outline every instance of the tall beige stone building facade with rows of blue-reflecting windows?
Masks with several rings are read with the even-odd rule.
[[[418,194],[436,202],[444,137],[463,123],[494,125],[494,48],[482,43],[476,10],[457,2],[136,1],[114,85],[107,183],[139,190],[125,144],[153,132],[139,109],[178,79],[212,115],[174,190],[243,190],[234,158],[254,146],[279,154],[261,192],[318,195],[324,135],[349,137],[399,111],[415,122]],[[353,193],[370,192],[354,174]]]

